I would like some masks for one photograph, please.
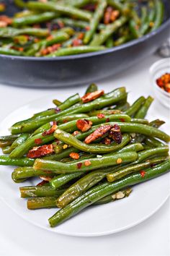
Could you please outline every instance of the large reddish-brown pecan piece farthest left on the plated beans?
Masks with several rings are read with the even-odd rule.
[[[40,158],[44,155],[53,153],[53,145],[42,145],[40,147],[34,147],[27,153],[27,158]]]

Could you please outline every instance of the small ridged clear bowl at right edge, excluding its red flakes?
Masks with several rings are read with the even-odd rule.
[[[167,93],[165,90],[159,88],[156,84],[156,79],[161,77],[165,73],[170,73],[170,58],[161,59],[156,61],[149,69],[151,85],[153,86],[155,97],[158,101],[170,108],[170,93]]]

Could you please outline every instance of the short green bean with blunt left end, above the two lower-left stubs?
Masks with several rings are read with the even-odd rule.
[[[37,176],[50,176],[53,177],[54,174],[50,171],[40,171],[36,170],[32,167],[18,167],[15,168],[12,172],[12,177],[14,179],[25,179],[30,177],[37,177]]]

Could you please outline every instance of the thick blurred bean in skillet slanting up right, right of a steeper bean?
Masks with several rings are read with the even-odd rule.
[[[91,40],[90,46],[101,46],[110,35],[115,33],[118,28],[122,27],[128,21],[127,17],[120,17],[118,20],[115,20],[112,24],[106,25],[104,30],[94,36],[94,39]]]

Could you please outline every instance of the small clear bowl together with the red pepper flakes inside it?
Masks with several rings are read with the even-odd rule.
[[[170,108],[170,58],[156,61],[149,72],[155,97],[161,104]]]

